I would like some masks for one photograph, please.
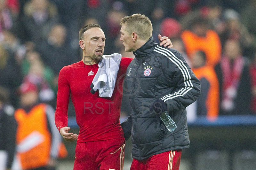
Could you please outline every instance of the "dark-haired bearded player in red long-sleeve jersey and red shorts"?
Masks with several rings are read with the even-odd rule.
[[[159,36],[161,38],[161,36]],[[79,45],[83,59],[60,70],[55,124],[66,141],[77,140],[74,170],[122,170],[124,165],[124,133],[120,126],[123,80],[133,58],[122,57],[112,97],[92,94],[90,85],[103,57],[105,35],[97,24],[80,29]],[[167,37],[160,39],[171,48]],[[68,132],[69,95],[75,107],[77,134]]]

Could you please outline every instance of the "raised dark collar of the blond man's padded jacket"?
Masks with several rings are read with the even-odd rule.
[[[151,36],[148,41],[143,44],[139,49],[133,51],[133,55],[136,58],[147,57],[155,49],[157,43],[153,40]]]

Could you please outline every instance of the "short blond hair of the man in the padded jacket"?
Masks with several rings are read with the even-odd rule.
[[[125,25],[125,30],[129,34],[134,32],[145,41],[148,41],[153,31],[150,19],[139,13],[122,18],[120,25]]]

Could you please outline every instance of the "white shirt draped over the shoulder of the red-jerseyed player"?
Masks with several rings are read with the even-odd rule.
[[[92,94],[99,90],[100,97],[112,96],[121,58],[122,55],[118,53],[103,55],[102,60],[99,62],[99,70],[92,80]]]

